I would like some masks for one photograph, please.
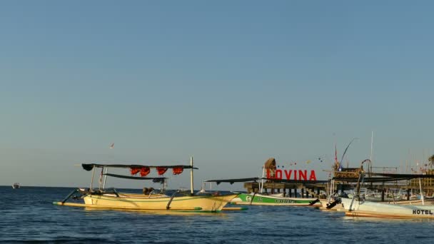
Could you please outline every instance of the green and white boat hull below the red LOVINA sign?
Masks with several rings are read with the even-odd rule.
[[[238,205],[311,205],[315,200],[317,198],[285,198],[276,195],[241,193],[231,203]],[[313,205],[319,206],[321,203],[317,202]]]

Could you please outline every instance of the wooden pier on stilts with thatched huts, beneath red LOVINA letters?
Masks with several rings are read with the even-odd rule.
[[[301,198],[321,198],[330,192],[343,193],[345,190],[352,190],[359,186],[380,192],[382,200],[385,199],[385,193],[389,190],[404,190],[408,199],[411,192],[418,192],[420,188],[422,188],[425,195],[434,194],[434,170],[427,171],[423,175],[373,173],[363,170],[363,163],[365,162],[370,163],[370,160],[362,161],[360,168],[339,168],[339,164],[336,163],[332,168],[333,179],[328,181],[297,181],[282,180],[281,177],[278,177],[277,172],[279,170],[276,168],[276,160],[268,158],[264,164],[264,171],[267,171],[267,180],[262,185],[263,193],[283,193],[283,196],[290,198],[298,196]],[[361,175],[364,176],[364,183],[358,185]],[[270,176],[271,178],[268,178]],[[330,184],[331,181],[333,181],[333,184]],[[329,189],[330,187],[333,187],[333,189]],[[261,183],[256,181],[246,182],[244,188],[248,193],[259,193],[261,192]]]

